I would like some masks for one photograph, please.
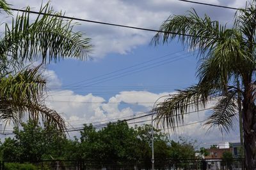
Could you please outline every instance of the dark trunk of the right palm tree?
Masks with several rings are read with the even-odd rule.
[[[247,95],[246,95],[247,94]],[[243,130],[246,169],[256,169],[256,106],[252,93],[245,93],[243,101]]]

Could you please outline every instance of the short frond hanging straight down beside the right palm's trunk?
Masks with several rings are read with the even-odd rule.
[[[218,127],[221,132],[229,132],[234,127],[234,120],[238,115],[236,91],[230,91],[225,96],[222,96],[218,103],[213,107],[212,115],[207,118],[204,125],[211,127]]]

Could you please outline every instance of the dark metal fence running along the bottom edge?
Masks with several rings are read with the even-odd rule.
[[[15,162],[2,161],[0,169]],[[20,163],[20,162],[16,162]],[[36,169],[49,170],[150,170],[150,160],[42,160],[40,162],[22,162],[33,164]],[[155,160],[156,170],[244,170],[244,159],[180,159]]]

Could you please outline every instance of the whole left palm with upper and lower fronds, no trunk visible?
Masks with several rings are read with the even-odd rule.
[[[0,8],[12,15],[6,1],[0,0]],[[12,19],[11,25],[2,24],[5,32],[0,38],[0,118],[15,125],[27,118],[53,124],[63,132],[63,118],[44,104],[46,82],[40,66],[66,57],[86,59],[92,45],[90,38],[73,31],[71,21],[58,17],[61,13],[52,11],[49,3],[41,6],[40,13],[31,22],[28,7]],[[42,63],[25,66],[35,59]]]

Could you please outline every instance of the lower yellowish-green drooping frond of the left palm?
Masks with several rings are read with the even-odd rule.
[[[41,101],[45,80],[38,74],[39,67],[28,68],[0,79],[0,118],[20,124],[25,115],[28,115],[28,119],[35,122],[42,120],[63,131],[63,118]]]

